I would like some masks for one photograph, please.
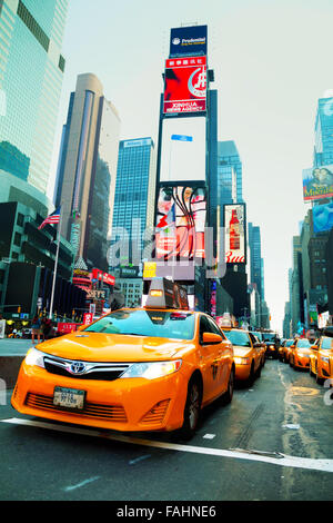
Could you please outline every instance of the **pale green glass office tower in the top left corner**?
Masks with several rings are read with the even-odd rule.
[[[64,71],[67,10],[68,0],[0,0],[0,175],[42,194]]]

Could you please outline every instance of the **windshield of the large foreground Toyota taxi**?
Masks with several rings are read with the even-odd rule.
[[[185,312],[121,309],[84,328],[85,333],[193,339],[195,315]]]

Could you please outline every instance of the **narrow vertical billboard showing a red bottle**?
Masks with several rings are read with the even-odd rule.
[[[245,205],[224,205],[224,248],[226,264],[245,264]]]

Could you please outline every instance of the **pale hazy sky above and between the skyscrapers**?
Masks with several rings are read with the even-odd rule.
[[[101,80],[121,119],[120,139],[151,136],[157,142],[170,29],[206,24],[219,140],[234,140],[243,162],[248,221],[261,228],[271,326],[282,332],[292,237],[309,208],[302,169],[312,166],[317,99],[333,89],[332,0],[69,3],[51,194],[77,76]]]

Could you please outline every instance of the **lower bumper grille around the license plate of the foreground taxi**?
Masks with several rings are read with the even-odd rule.
[[[84,417],[93,417],[98,420],[105,420],[110,422],[127,423],[127,414],[122,405],[103,405],[99,403],[87,402],[84,408],[80,411],[73,411],[68,408],[61,408],[58,405],[53,405],[52,396],[44,396],[42,394],[28,393],[26,397],[26,405],[32,408],[51,412],[70,412],[72,415],[79,415]]]

